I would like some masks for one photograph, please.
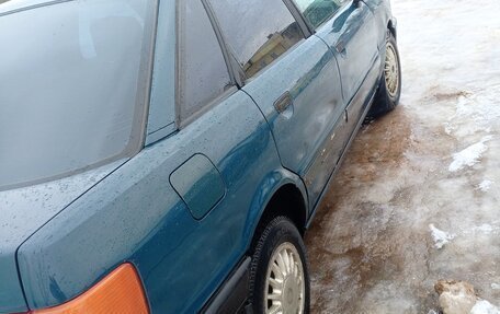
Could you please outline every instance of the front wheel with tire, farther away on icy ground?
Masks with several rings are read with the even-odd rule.
[[[401,62],[396,38],[393,33],[387,30],[382,77],[378,82],[378,90],[374,103],[367,116],[370,118],[376,118],[393,111],[399,104],[400,96]]]

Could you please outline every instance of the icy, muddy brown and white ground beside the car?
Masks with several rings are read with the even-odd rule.
[[[400,106],[360,131],[306,236],[312,313],[500,305],[500,1],[393,0]]]

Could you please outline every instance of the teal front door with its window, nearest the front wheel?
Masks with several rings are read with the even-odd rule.
[[[295,0],[309,26],[333,51],[342,78],[349,130],[365,113],[379,74],[379,27],[360,0]]]

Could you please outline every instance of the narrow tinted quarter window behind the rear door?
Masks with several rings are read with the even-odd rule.
[[[179,80],[181,121],[230,86],[220,45],[200,0],[180,1]]]

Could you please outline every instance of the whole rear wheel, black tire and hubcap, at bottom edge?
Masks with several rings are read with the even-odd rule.
[[[253,313],[281,310],[277,312],[283,314],[307,314],[309,290],[309,272],[300,234],[292,221],[277,217],[260,234],[252,257],[250,302]]]

